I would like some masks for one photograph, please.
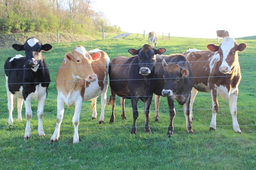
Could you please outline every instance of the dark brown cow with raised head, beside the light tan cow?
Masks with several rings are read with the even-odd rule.
[[[163,54],[164,48],[155,49],[145,44],[136,50],[131,48],[128,52],[132,57],[117,56],[109,65],[109,83],[111,96],[108,104],[112,101],[112,115],[110,123],[115,120],[116,94],[132,100],[133,125],[132,134],[136,134],[136,120],[139,116],[137,103],[140,99],[145,103],[145,131],[151,132],[148,125],[149,108],[155,88],[155,65],[156,54]]]

